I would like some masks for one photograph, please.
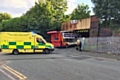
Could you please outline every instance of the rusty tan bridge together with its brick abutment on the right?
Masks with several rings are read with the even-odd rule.
[[[82,20],[64,22],[61,31],[71,31],[78,37],[98,37],[98,32],[100,37],[111,36],[110,29],[99,27],[99,19],[95,15]]]

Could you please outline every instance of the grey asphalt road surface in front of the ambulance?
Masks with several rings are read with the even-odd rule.
[[[94,54],[69,48],[56,49],[52,54],[1,54],[0,60],[26,80],[120,80],[120,61]],[[13,80],[2,71],[0,78]]]

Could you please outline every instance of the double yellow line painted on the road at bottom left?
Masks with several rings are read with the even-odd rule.
[[[27,77],[24,76],[23,74],[21,74],[20,72],[10,68],[9,66],[2,66],[5,70],[9,71],[11,74],[13,74],[14,76],[16,76],[17,78],[19,78],[19,80],[26,80]]]

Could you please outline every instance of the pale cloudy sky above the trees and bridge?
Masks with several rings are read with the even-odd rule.
[[[12,17],[20,17],[26,13],[38,0],[0,0],[0,12],[9,13]],[[70,14],[78,4],[84,3],[89,5],[92,11],[93,4],[91,0],[68,0],[68,10],[65,14]],[[91,15],[93,15],[93,11]]]

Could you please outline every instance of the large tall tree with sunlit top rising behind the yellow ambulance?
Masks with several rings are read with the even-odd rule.
[[[66,0],[39,0],[23,16],[28,17],[28,30],[35,29],[46,36],[47,31],[61,27],[63,21],[69,20],[69,17],[64,15],[66,10]]]

